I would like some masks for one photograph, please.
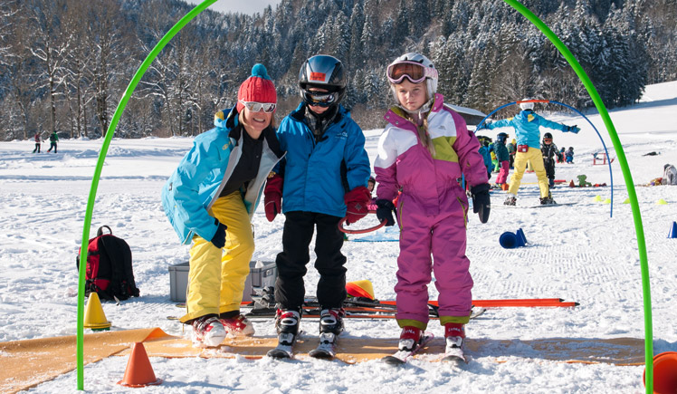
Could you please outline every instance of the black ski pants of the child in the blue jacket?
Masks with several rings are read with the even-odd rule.
[[[319,273],[318,301],[322,308],[340,308],[346,299],[346,256],[341,254],[343,235],[338,216],[315,212],[294,211],[285,214],[282,232],[282,252],[277,255],[278,278],[275,300],[281,309],[300,310],[305,298],[303,276],[310,262],[309,246],[315,238],[315,268]]]

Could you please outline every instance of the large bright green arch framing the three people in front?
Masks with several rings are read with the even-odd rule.
[[[156,44],[146,60],[141,63],[138,68],[138,71],[134,74],[127,90],[122,96],[122,99],[119,101],[118,108],[113,114],[113,118],[110,121],[110,126],[106,131],[105,138],[103,140],[103,145],[99,153],[99,159],[97,161],[96,169],[94,170],[94,176],[91,179],[91,188],[90,188],[90,197],[87,201],[87,210],[85,213],[84,225],[82,228],[82,244],[81,244],[81,255],[80,261],[87,261],[87,245],[90,238],[90,226],[91,226],[91,215],[94,210],[94,200],[96,198],[97,188],[99,186],[99,179],[101,175],[101,168],[103,168],[103,162],[106,159],[106,154],[110,146],[110,140],[113,138],[115,129],[118,126],[119,118],[122,115],[122,112],[127,106],[127,102],[131,97],[132,92],[136,89],[138,82],[141,80],[141,77],[148,70],[150,64],[155,60],[157,55],[162,51],[162,49],[171,41],[172,38],[186,25],[188,22],[193,20],[195,16],[202,13],[205,8],[209,5],[213,5],[217,0],[205,0],[200,5],[195,6],[186,16],[181,18],[168,32],[165,34],[162,39]],[[578,78],[583,82],[586,87],[586,90],[592,97],[593,102],[597,111],[599,111],[602,119],[605,122],[606,129],[609,132],[614,148],[617,154],[617,159],[623,169],[623,175],[625,178],[625,183],[628,190],[628,197],[630,198],[630,204],[633,207],[633,217],[634,217],[634,228],[635,233],[637,234],[637,244],[639,246],[640,254],[640,265],[642,268],[642,285],[644,289],[644,330],[645,330],[645,377],[646,377],[646,392],[653,392],[653,329],[652,329],[652,315],[651,315],[651,292],[649,287],[649,269],[647,264],[646,257],[646,246],[644,241],[644,228],[642,226],[642,217],[639,212],[639,204],[637,202],[637,195],[634,190],[633,178],[630,174],[630,168],[627,165],[627,160],[625,159],[625,152],[621,146],[621,142],[618,139],[618,135],[615,132],[614,123],[612,123],[611,118],[609,117],[608,112],[606,111],[605,105],[602,102],[602,99],[597,94],[595,86],[587,77],[586,72],[583,71],[583,68],[577,62],[576,58],[572,53],[570,53],[567,47],[562,43],[558,36],[554,34],[546,24],[543,24],[539,18],[531,13],[528,8],[524,5],[521,5],[520,2],[514,0],[504,0],[508,5],[515,8],[520,14],[524,15],[529,21],[536,25],[539,30],[545,34],[550,42],[555,44],[558,48],[558,51],[564,55],[567,59],[567,62],[571,65],[574,71],[577,73]],[[78,322],[77,322],[77,389],[82,390],[84,388],[84,372],[83,372],[83,360],[84,360],[84,283],[85,283],[85,270],[81,269],[78,276]]]

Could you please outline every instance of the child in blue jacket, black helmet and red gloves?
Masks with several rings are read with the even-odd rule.
[[[280,212],[286,216],[282,252],[275,261],[275,326],[283,346],[291,346],[299,332],[305,297],[303,276],[316,227],[320,341],[333,342],[343,330],[346,257],[341,254],[343,235],[338,225],[344,216],[347,224],[366,216],[371,197],[364,134],[340,105],[346,84],[339,59],[321,54],[310,57],[300,68],[303,100],[277,130],[281,149],[287,155],[269,179],[264,194],[268,220]]]

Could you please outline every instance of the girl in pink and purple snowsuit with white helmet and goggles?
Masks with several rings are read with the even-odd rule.
[[[464,324],[472,308],[470,260],[465,255],[468,199],[465,177],[482,223],[489,219],[490,186],[480,143],[462,117],[443,103],[437,70],[419,53],[406,53],[386,71],[396,105],[378,140],[377,216],[393,226],[397,200],[400,255],[397,258],[398,349],[413,351],[429,321],[428,289],[434,272],[446,354],[463,358]],[[431,259],[432,255],[432,259]]]

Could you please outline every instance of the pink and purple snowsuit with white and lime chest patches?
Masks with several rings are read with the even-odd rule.
[[[468,199],[458,179],[465,176],[471,187],[488,181],[480,142],[461,115],[443,105],[441,94],[435,94],[427,116],[434,157],[404,111],[394,107],[384,118],[389,124],[378,141],[374,164],[377,198],[393,200],[402,189],[396,207],[397,322],[400,327],[426,328],[427,285],[434,273],[440,322],[466,323],[472,307],[470,260],[465,255]]]

